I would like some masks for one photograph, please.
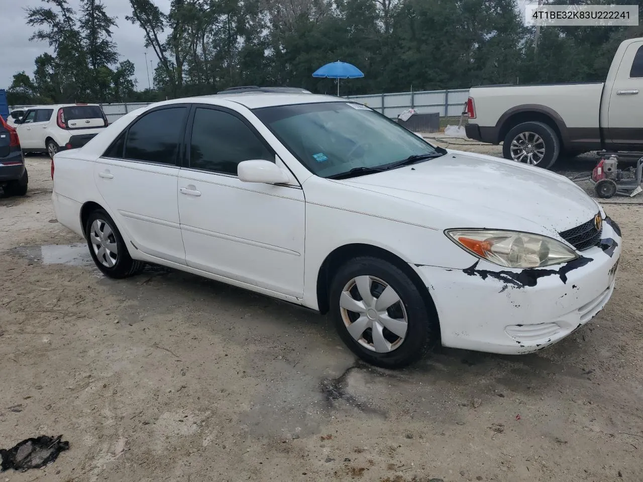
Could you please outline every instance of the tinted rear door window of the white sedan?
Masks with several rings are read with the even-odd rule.
[[[123,157],[174,165],[186,111],[185,107],[173,107],[145,114],[129,128]]]

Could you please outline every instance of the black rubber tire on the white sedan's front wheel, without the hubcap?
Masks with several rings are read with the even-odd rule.
[[[366,348],[356,341],[347,329],[348,325],[340,307],[340,298],[347,283],[358,276],[379,278],[394,289],[401,299],[408,321],[406,335],[399,346],[390,352],[378,353]],[[376,285],[377,281],[374,281],[371,289],[377,289]],[[421,359],[437,343],[437,318],[426,306],[415,283],[394,264],[371,256],[354,258],[338,270],[330,288],[329,306],[335,328],[343,342],[363,361],[382,368],[402,368]],[[392,307],[395,308],[396,305],[397,303]],[[400,309],[400,305],[397,305],[396,309]],[[365,330],[364,337],[368,336],[368,330],[372,328]],[[386,329],[384,332],[387,336],[397,337]]]

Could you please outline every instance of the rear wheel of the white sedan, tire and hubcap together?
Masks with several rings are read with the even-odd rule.
[[[89,215],[85,233],[91,257],[109,278],[127,278],[143,271],[145,263],[132,260],[114,220],[104,210]]]

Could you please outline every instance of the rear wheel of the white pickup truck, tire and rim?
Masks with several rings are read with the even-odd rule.
[[[542,122],[523,122],[507,132],[502,155],[505,159],[548,169],[558,159],[560,149],[554,129]]]

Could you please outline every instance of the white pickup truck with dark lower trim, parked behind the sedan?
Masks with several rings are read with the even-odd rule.
[[[622,42],[605,82],[492,85],[469,93],[467,137],[550,168],[559,154],[643,151],[643,38]]]

